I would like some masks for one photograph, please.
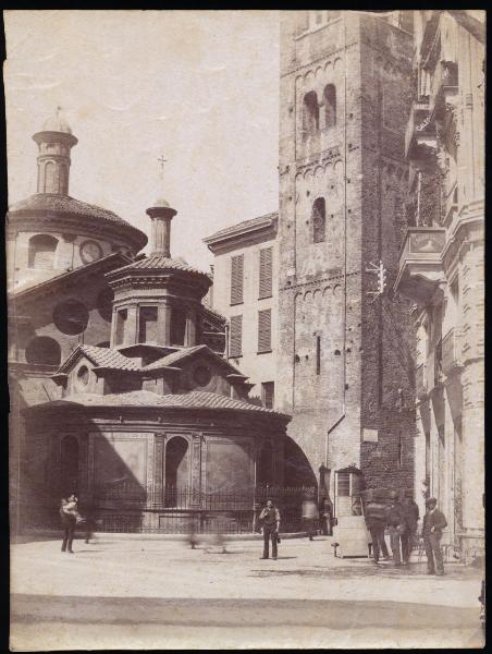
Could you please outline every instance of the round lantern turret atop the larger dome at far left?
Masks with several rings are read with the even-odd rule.
[[[39,148],[37,192],[69,195],[70,152],[78,140],[61,116],[60,107],[33,140]]]

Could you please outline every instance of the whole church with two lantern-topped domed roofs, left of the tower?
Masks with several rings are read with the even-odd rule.
[[[39,140],[73,145],[56,121]],[[257,489],[283,485],[290,417],[251,403],[223,358],[224,319],[201,303],[210,276],[171,257],[176,211],[147,209],[145,257],[143,232],[56,178],[8,216],[10,256],[27,244],[26,276],[9,268],[12,533],[58,525],[73,492],[103,530],[207,531],[233,511],[226,529],[250,531]],[[79,261],[61,269],[75,227]]]

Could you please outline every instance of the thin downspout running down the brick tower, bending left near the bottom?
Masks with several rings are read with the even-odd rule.
[[[344,35],[344,63],[345,63],[345,75],[344,75],[344,161],[343,161],[343,211],[344,211],[344,228],[343,228],[343,312],[342,312],[342,411],[339,417],[333,422],[333,424],[328,428],[327,432],[327,440],[324,448],[324,465],[329,468],[329,449],[330,449],[330,434],[340,425],[340,423],[345,419],[346,415],[346,404],[345,404],[345,395],[346,395],[346,380],[347,380],[347,371],[346,371],[346,356],[347,356],[347,348],[346,348],[346,325],[347,325],[347,28],[346,28],[346,15],[343,14],[343,35]],[[330,480],[331,482],[331,480]],[[330,489],[329,489],[330,491]],[[335,505],[335,498],[333,497],[333,513]]]

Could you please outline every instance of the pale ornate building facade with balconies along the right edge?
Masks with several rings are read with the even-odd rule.
[[[471,558],[484,537],[484,12],[413,13],[410,227],[395,289],[414,302],[416,486]]]

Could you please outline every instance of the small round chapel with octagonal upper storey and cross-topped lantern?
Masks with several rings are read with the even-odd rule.
[[[107,529],[183,531],[231,493],[247,522],[255,488],[283,484],[290,417],[249,403],[247,377],[200,342],[211,279],[171,258],[175,209],[147,214],[149,256],[106,275],[110,347],[77,347],[52,375],[61,398],[25,411],[32,482],[45,507],[78,493]]]

